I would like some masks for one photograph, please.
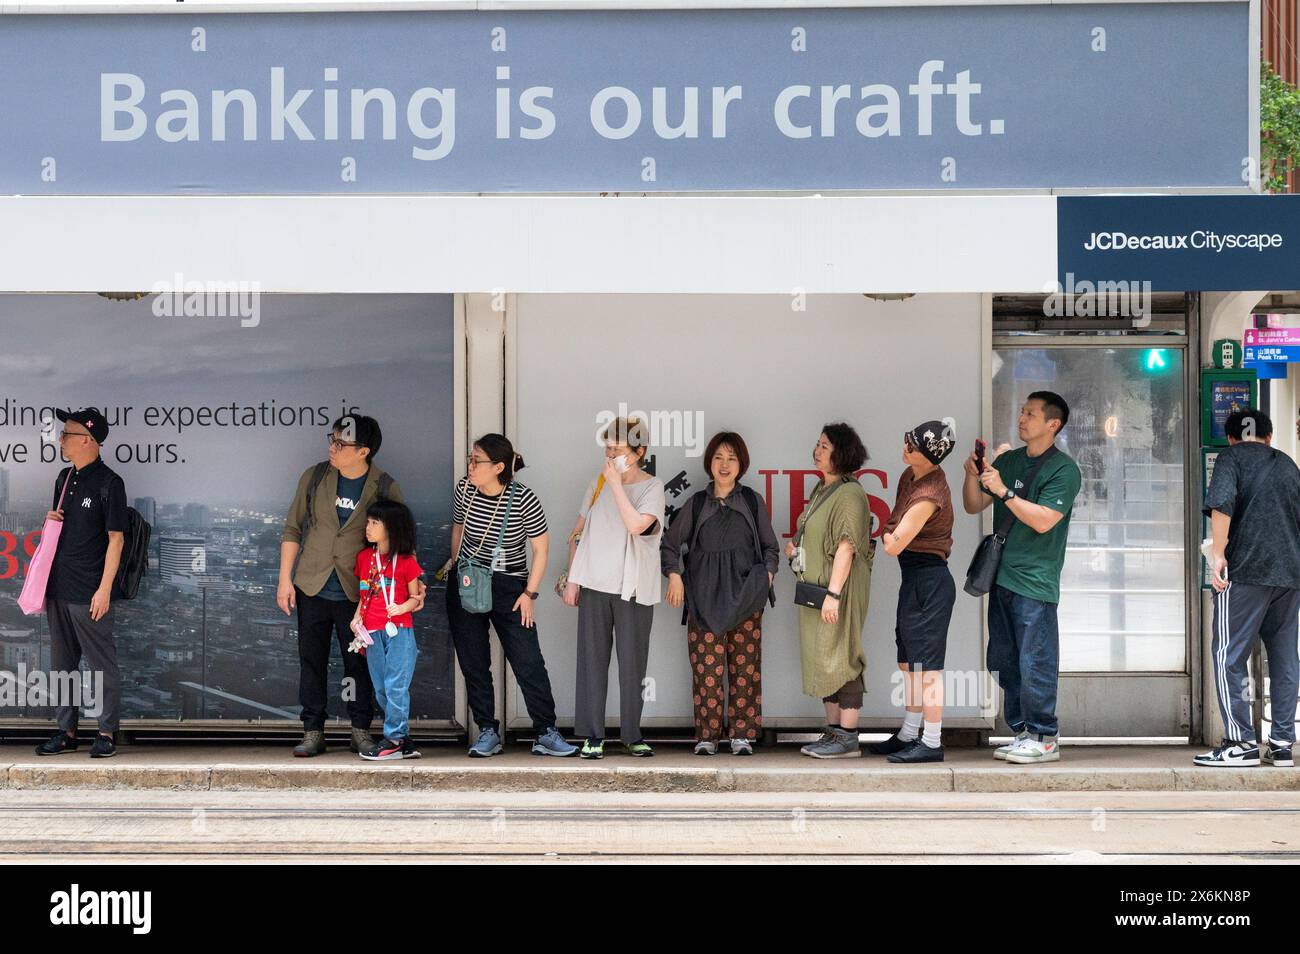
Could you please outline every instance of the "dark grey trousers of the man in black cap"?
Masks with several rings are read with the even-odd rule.
[[[62,599],[46,600],[49,620],[49,668],[58,673],[74,673],[84,656],[100,706],[99,730],[117,732],[121,703],[121,675],[117,669],[117,643],[113,642],[113,619],[117,607],[109,604],[103,619],[90,617],[90,603],[68,603]],[[83,691],[84,698],[84,691]],[[79,720],[77,699],[60,698],[57,706],[58,728],[75,734]]]

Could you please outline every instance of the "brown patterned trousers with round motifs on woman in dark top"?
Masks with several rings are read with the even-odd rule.
[[[697,740],[758,738],[763,728],[762,637],[762,610],[722,636],[702,630],[694,615],[688,619]]]

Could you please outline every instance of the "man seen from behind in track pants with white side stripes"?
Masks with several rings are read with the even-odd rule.
[[[1223,742],[1197,766],[1291,766],[1300,654],[1300,471],[1273,448],[1273,422],[1262,411],[1230,415],[1227,450],[1214,461],[1205,494],[1214,586],[1214,688]],[[1247,664],[1256,642],[1269,654],[1273,724],[1262,753],[1251,719]]]

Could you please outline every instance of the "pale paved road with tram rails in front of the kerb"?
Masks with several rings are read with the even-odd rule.
[[[399,846],[399,847],[396,847]],[[0,792],[0,860],[1269,863],[1300,794]]]

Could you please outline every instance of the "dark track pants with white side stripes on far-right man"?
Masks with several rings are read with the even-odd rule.
[[[1269,654],[1269,699],[1277,742],[1296,740],[1296,694],[1300,690],[1300,590],[1284,586],[1228,584],[1214,594],[1214,682],[1223,728],[1232,742],[1254,742],[1248,663],[1257,641]],[[1262,697],[1262,693],[1256,693]]]

